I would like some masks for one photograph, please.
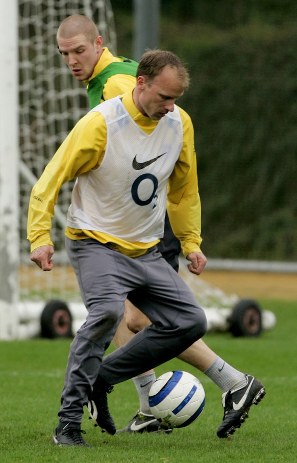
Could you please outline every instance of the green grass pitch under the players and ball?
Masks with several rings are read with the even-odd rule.
[[[266,396],[232,436],[220,440],[216,430],[223,409],[221,393],[205,375],[174,359],[156,369],[186,370],[204,385],[206,406],[189,427],[170,435],[101,433],[88,420],[82,429],[91,448],[60,448],[51,443],[69,350],[69,340],[0,342],[0,457],[2,463],[226,463],[296,461],[297,455],[297,302],[263,301],[277,316],[277,326],[259,338],[229,333],[205,336],[207,344],[234,367],[257,376]],[[117,427],[138,409],[133,382],[118,384],[109,396]]]

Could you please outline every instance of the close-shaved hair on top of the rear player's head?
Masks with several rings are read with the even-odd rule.
[[[96,24],[91,19],[81,14],[72,14],[60,24],[57,40],[70,39],[79,34],[83,34],[89,42],[93,42],[100,35]]]

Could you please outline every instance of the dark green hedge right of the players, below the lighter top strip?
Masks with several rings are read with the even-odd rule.
[[[204,250],[296,260],[296,28],[223,35],[179,52],[191,74],[180,104],[195,127]]]

